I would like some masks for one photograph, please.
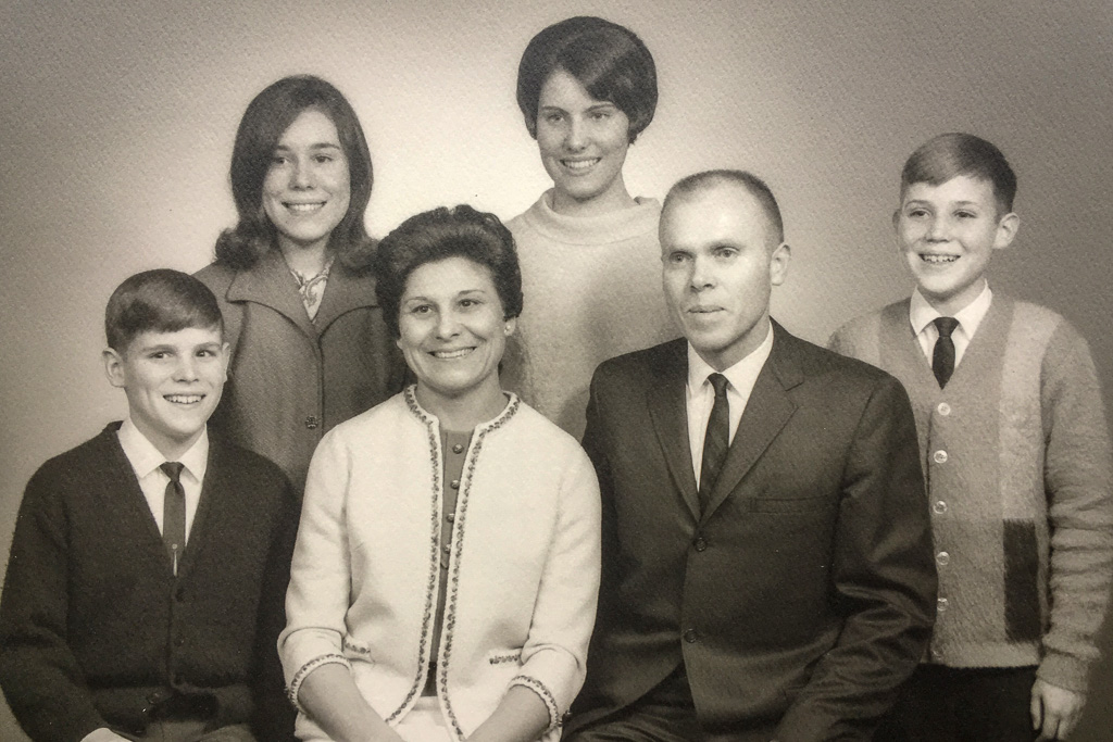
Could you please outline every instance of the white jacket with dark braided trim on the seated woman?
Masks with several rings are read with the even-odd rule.
[[[290,699],[326,663],[351,669],[397,723],[430,671],[439,581],[440,424],[410,387],[322,439],[305,491],[278,640]],[[599,487],[587,454],[511,395],[475,428],[456,499],[436,693],[469,736],[511,685],[550,714],[580,691],[599,592]],[[327,739],[304,713],[303,740]]]

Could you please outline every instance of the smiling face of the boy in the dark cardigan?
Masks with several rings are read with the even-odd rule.
[[[180,457],[200,437],[227,379],[219,326],[140,333],[124,353],[107,348],[104,356],[136,427],[167,459]]]

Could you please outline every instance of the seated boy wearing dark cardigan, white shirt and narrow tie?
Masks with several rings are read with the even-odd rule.
[[[128,418],[27,485],[0,686],[36,742],[289,739],[275,646],[297,511],[277,466],[209,439],[228,365],[216,299],[141,273],[105,328]]]

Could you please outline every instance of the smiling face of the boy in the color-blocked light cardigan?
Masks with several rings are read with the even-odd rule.
[[[1015,214],[998,217],[993,184],[969,176],[912,184],[893,222],[920,294],[947,316],[978,297],[993,251],[1008,247],[1020,225]]]

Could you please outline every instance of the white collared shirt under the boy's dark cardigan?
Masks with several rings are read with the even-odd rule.
[[[158,532],[162,532],[162,503],[166,499],[166,485],[170,477],[159,468],[166,456],[159,453],[150,441],[147,439],[139,428],[136,427],[131,418],[124,421],[117,433],[120,439],[120,447],[124,455],[128,457],[131,468],[139,479],[139,488],[142,489],[144,497],[147,498],[147,506],[150,507],[155,523],[158,524]],[[201,482],[205,481],[205,468],[208,466],[208,428],[201,431],[197,442],[189,447],[181,458],[184,468],[181,469],[181,488],[186,492],[186,543],[189,543],[189,532],[194,525],[194,516],[197,515],[197,503],[201,498]]]

